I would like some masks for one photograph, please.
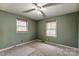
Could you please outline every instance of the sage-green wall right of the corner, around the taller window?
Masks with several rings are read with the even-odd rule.
[[[48,40],[54,43],[78,47],[78,13],[71,13],[53,17],[51,19],[42,20],[38,22],[38,38]],[[57,38],[46,37],[45,23],[46,21],[57,21]]]

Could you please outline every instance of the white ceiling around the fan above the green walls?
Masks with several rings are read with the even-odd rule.
[[[39,6],[45,4],[46,3],[38,3]],[[78,3],[65,3],[54,6],[52,5],[50,7],[44,8],[42,11],[46,14],[46,17],[48,18],[79,11],[78,6]],[[34,20],[40,20],[44,18],[41,14],[38,14],[36,10],[28,13],[23,13],[23,11],[32,8],[35,8],[35,5],[33,5],[32,3],[0,3],[0,10],[23,15]]]

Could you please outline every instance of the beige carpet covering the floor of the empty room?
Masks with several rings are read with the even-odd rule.
[[[32,42],[23,46],[14,47],[4,52],[1,56],[78,56],[79,51],[61,48],[42,42]]]

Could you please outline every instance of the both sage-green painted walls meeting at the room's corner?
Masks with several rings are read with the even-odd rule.
[[[78,13],[61,15],[38,22],[27,19],[29,31],[24,33],[16,32],[16,17],[17,15],[0,11],[0,49],[22,43],[22,40],[27,42],[35,38],[72,47],[79,46]],[[45,36],[45,22],[50,20],[57,21],[57,38]]]

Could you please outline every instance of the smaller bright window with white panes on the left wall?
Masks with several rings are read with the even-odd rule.
[[[16,20],[16,31],[19,31],[19,32],[24,32],[24,31],[28,31],[28,23],[27,21],[24,21],[24,20]]]

